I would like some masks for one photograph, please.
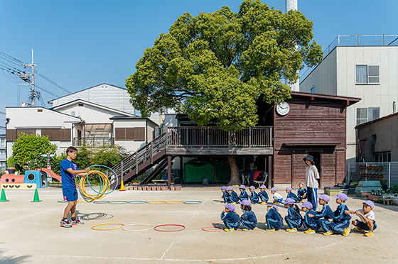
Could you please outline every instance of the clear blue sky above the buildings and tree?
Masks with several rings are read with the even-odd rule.
[[[284,11],[284,0],[262,2]],[[124,87],[144,49],[178,16],[213,12],[224,5],[238,11],[240,3],[0,0],[0,52],[30,63],[33,48],[36,70],[70,92],[104,82]],[[298,0],[298,9],[313,21],[314,38],[323,49],[337,35],[398,33],[396,0]],[[1,112],[27,100],[28,86],[17,87],[16,82],[0,70]],[[41,77],[36,82],[50,92],[39,90],[45,102],[67,94]],[[3,120],[0,115],[0,126]]]

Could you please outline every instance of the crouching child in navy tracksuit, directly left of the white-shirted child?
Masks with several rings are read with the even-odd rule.
[[[335,210],[335,217],[333,219],[328,219],[330,225],[326,223],[322,225],[323,229],[328,230],[323,233],[323,236],[330,236],[333,232],[342,233],[343,236],[348,236],[351,229],[348,228],[350,226],[350,214],[345,214],[345,211],[349,211],[347,205],[345,205],[345,201],[348,200],[346,194],[337,194],[335,196],[336,203],[338,204],[337,209]]]

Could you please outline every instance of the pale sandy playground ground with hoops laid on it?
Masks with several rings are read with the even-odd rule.
[[[62,198],[61,189],[48,187],[39,189],[38,193],[43,202],[31,203],[32,190],[6,191],[10,202],[0,203],[0,263],[398,263],[398,206],[395,205],[376,205],[377,229],[370,238],[353,231],[346,237],[306,234],[303,228],[288,233],[284,230],[286,224],[282,230],[267,232],[266,206],[260,204],[253,207],[259,221],[257,229],[242,231],[241,226],[234,232],[206,232],[202,230],[204,226],[224,227],[220,219],[224,206],[214,202],[220,201],[220,189],[186,185],[181,191],[115,191],[102,200],[198,200],[200,204],[81,202],[77,204],[77,216],[85,225],[66,229],[59,226],[65,208],[64,203],[58,202]],[[362,208],[362,202],[350,196],[346,204],[354,210]],[[330,207],[336,208],[334,198]],[[286,215],[282,207],[279,212]],[[237,208],[237,213],[241,215],[242,210]],[[109,223],[180,224],[185,230],[91,229]],[[112,227],[117,226],[102,226]]]

